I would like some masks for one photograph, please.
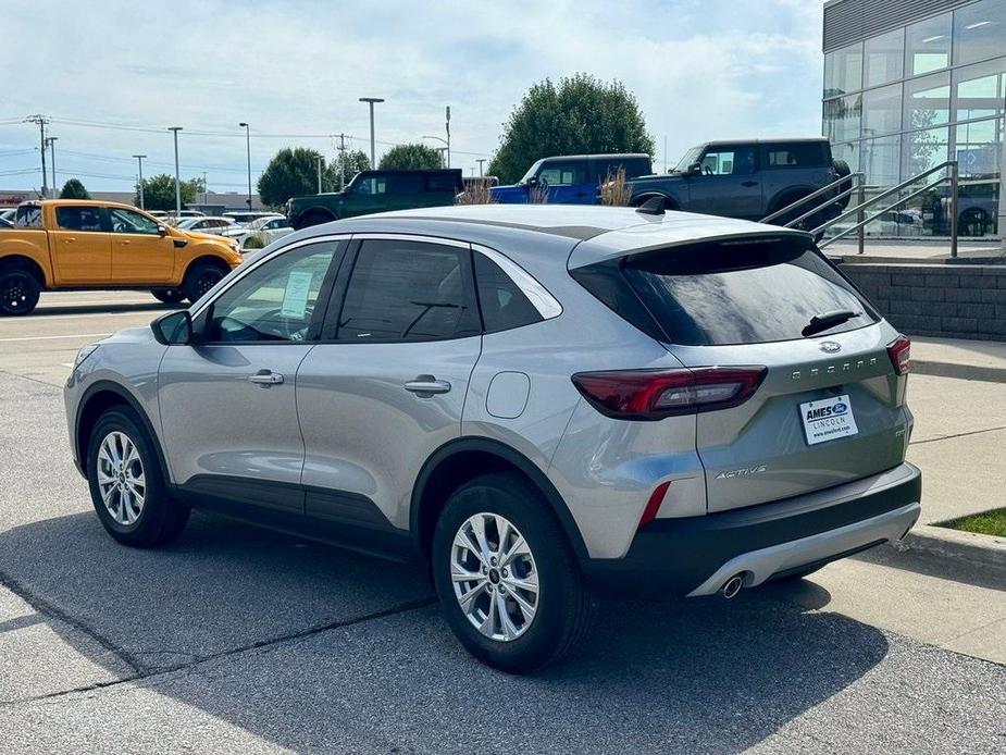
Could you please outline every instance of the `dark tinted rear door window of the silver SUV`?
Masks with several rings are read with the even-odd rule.
[[[476,335],[481,323],[471,280],[467,249],[409,240],[363,242],[335,337],[364,343]]]

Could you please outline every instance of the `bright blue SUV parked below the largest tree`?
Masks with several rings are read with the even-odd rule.
[[[518,183],[495,186],[489,196],[501,205],[596,205],[600,185],[620,168],[626,178],[654,172],[648,154],[564,154],[538,160]]]

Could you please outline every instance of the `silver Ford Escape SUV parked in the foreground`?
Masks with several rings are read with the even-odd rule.
[[[908,349],[800,232],[439,208],[285,237],[84,348],[65,398],[121,543],[199,507],[415,558],[526,671],[598,591],[730,597],[902,537]]]

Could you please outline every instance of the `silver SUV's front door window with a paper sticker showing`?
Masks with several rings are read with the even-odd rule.
[[[302,343],[337,242],[291,249],[256,268],[208,308],[207,343]]]

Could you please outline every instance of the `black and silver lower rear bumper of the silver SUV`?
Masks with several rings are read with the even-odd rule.
[[[909,463],[864,480],[704,517],[657,519],[619,559],[589,559],[593,589],[625,595],[711,595],[904,537],[919,518],[922,474]]]

